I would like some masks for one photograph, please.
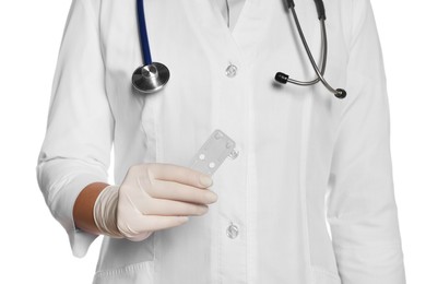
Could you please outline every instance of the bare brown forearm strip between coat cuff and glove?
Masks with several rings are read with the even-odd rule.
[[[80,192],[72,212],[78,228],[94,235],[100,235],[93,217],[93,208],[97,197],[107,186],[108,184],[94,182]]]

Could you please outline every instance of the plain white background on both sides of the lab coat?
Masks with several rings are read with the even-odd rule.
[[[388,78],[393,177],[407,283],[421,284],[426,283],[426,2],[371,1]],[[1,283],[91,283],[96,264],[99,241],[86,258],[72,257],[67,235],[50,216],[35,175],[70,3],[0,2]]]

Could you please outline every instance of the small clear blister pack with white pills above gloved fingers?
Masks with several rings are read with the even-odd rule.
[[[190,167],[212,176],[235,150],[235,142],[221,130],[215,130],[192,158]]]

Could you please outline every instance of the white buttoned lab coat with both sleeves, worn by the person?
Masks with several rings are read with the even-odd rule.
[[[117,185],[134,164],[188,165],[214,129],[239,151],[213,176],[218,201],[206,215],[141,242],[104,238],[94,283],[405,283],[370,3],[324,2],[326,78],[347,91],[342,100],[320,84],[274,83],[281,70],[315,78],[281,0],[247,0],[232,33],[212,1],[146,0],[153,59],[171,72],[146,97],[130,81],[142,63],[135,1],[72,2],[38,179],[75,256],[95,236],[74,228],[73,202],[107,181],[113,143]],[[319,58],[315,4],[296,9]]]

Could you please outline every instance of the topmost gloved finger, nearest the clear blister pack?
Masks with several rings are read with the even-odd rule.
[[[208,188],[213,184],[210,176],[188,167],[171,164],[150,164],[147,170],[152,180],[161,179],[176,181],[198,188]]]

